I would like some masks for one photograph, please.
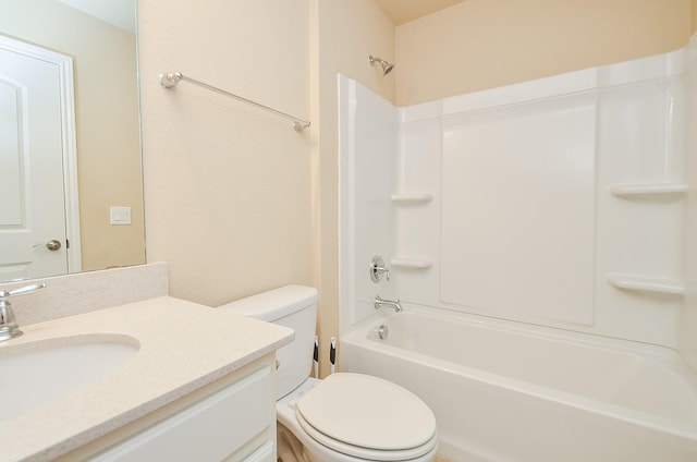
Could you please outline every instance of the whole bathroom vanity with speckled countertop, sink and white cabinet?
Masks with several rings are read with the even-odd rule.
[[[37,375],[0,384],[0,461],[276,461],[291,329],[171,296],[20,327],[2,375]]]

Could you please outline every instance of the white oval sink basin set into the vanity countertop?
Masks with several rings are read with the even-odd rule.
[[[77,336],[0,348],[0,422],[98,381],[138,352],[126,336]]]

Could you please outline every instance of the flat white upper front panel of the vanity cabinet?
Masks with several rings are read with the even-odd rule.
[[[93,460],[224,460],[273,423],[276,408],[272,377],[271,368],[264,367],[119,442]],[[264,446],[259,449],[264,449]],[[273,460],[273,443],[270,449],[270,460]]]

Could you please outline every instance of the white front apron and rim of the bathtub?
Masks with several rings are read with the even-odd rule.
[[[402,327],[390,323],[412,316],[417,315],[409,311],[378,323],[391,327],[389,339]],[[426,316],[436,323],[453,323],[432,313]],[[697,458],[697,423],[690,404],[694,391],[681,394],[687,398],[682,405],[690,415],[669,416],[670,405],[626,408],[404,350],[375,340],[376,327],[366,325],[343,338],[342,367],[395,381],[421,398],[436,414],[439,451],[445,460],[653,462]],[[423,323],[418,331],[424,340],[433,333]],[[467,333],[466,327],[462,333]],[[432,340],[445,344],[438,338]],[[540,336],[539,340],[555,346],[552,336]],[[578,346],[588,348],[587,343],[582,341]],[[597,348],[613,350],[608,344]],[[623,350],[622,345],[617,349]],[[663,361],[663,356],[670,354],[658,352],[656,361]],[[583,372],[574,377],[579,374]]]

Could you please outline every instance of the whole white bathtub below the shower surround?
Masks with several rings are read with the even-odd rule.
[[[670,349],[405,311],[343,336],[341,369],[426,401],[442,461],[697,461],[697,379]]]

